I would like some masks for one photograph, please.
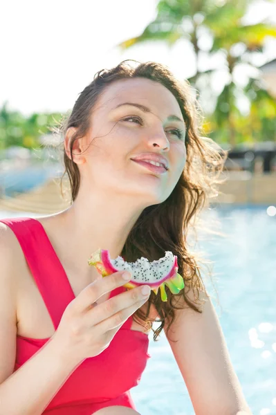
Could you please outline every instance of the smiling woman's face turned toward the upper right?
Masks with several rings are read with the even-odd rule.
[[[91,130],[81,139],[82,190],[102,192],[109,201],[129,196],[141,208],[165,201],[185,166],[185,131],[178,102],[165,86],[142,77],[113,82],[98,98]],[[141,153],[165,157],[167,172],[151,172],[131,160]]]

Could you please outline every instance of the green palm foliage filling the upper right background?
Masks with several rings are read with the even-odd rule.
[[[214,111],[208,112],[204,124],[206,133],[219,142],[234,146],[242,141],[276,140],[275,99],[269,93],[257,88],[256,79],[249,78],[248,85],[241,89],[235,82],[234,70],[239,64],[254,68],[252,53],[262,53],[266,38],[276,38],[276,27],[268,23],[245,25],[242,18],[252,3],[250,0],[160,0],[156,7],[156,18],[151,21],[138,37],[127,39],[118,46],[126,50],[142,42],[160,41],[172,47],[178,39],[187,39],[194,48],[196,62],[201,53],[200,38],[206,31],[212,36],[212,47],[208,55],[223,52],[230,82],[217,97]],[[233,46],[243,46],[241,52],[233,52]],[[206,55],[206,50],[203,51]],[[185,50],[183,50],[185,53]],[[199,71],[188,78],[194,89],[210,89],[210,82],[202,77],[211,76],[218,68]],[[210,95],[212,91],[210,91]],[[238,97],[246,97],[250,111],[244,116],[237,105]]]

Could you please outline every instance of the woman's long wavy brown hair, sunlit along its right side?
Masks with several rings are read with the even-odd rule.
[[[138,65],[131,66],[129,62],[136,62]],[[159,82],[171,91],[179,104],[187,127],[185,136],[187,160],[181,178],[163,203],[149,206],[142,211],[129,232],[120,254],[128,262],[134,262],[142,256],[149,261],[154,261],[163,257],[166,250],[177,256],[178,273],[183,276],[185,289],[177,295],[173,295],[165,286],[167,302],[161,301],[159,292],[158,295],[155,295],[151,291],[147,302],[147,311],[144,313],[139,308],[134,313],[136,322],[145,326],[149,324],[151,330],[154,331],[154,341],[156,341],[165,322],[168,322],[169,330],[174,322],[176,309],[185,308],[187,304],[188,308],[202,313],[197,303],[199,294],[202,291],[209,296],[201,277],[199,257],[188,250],[187,234],[188,230],[194,227],[199,212],[208,205],[210,197],[220,193],[216,185],[222,183],[219,181],[219,176],[223,171],[228,154],[213,140],[201,136],[203,131],[201,107],[187,80],[180,82],[163,64],[141,63],[127,59],[116,67],[98,71],[93,81],[80,93],[71,113],[60,122],[58,131],[63,137],[69,127],[77,128],[71,140],[71,158],[67,156],[63,146],[65,170],[61,178],[61,185],[64,176],[67,175],[71,188],[71,204],[75,201],[80,188],[80,171],[73,161],[73,143],[89,131],[91,113],[102,91],[112,82],[134,77],[144,77]],[[64,145],[64,143],[62,144]],[[205,263],[207,262],[205,261]],[[195,302],[187,297],[190,290],[193,292]],[[178,308],[176,303],[181,306]],[[149,319],[151,304],[154,304],[160,315],[160,320],[157,321],[161,324],[157,330],[152,329],[153,320]]]

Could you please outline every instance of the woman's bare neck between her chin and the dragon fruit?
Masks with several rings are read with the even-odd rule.
[[[88,270],[87,260],[98,248],[109,250],[111,259],[122,252],[131,228],[145,208],[137,207],[136,198],[125,202],[122,199],[120,194],[111,198],[93,194],[87,198],[80,193],[70,208],[55,216],[60,243],[70,255],[73,253],[80,269]]]

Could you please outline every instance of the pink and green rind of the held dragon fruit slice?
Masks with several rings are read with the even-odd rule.
[[[118,270],[114,268],[111,264],[111,258],[109,255],[108,250],[98,249],[88,260],[89,265],[95,266],[98,270],[98,273],[102,275],[102,277],[106,277],[107,275],[116,273]],[[173,294],[178,294],[181,291],[185,284],[183,277],[177,272],[178,264],[177,264],[177,257],[174,255],[174,264],[172,265],[172,269],[169,271],[169,274],[165,275],[163,279],[159,279],[158,282],[147,282],[146,285],[151,287],[151,290],[157,295],[158,288],[160,287],[161,299],[163,301],[167,301],[167,294],[165,291],[165,285],[169,288],[169,291]],[[136,286],[145,285],[145,283],[134,282],[131,280],[124,284],[126,288],[135,288]]]

